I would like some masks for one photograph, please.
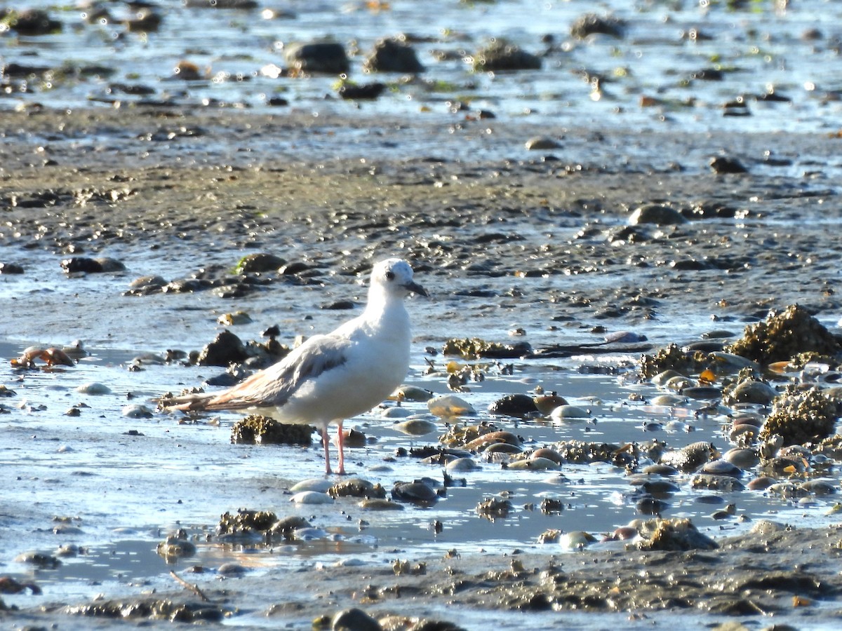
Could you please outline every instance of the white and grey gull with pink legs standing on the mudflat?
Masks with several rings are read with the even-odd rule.
[[[403,300],[427,296],[413,281],[413,268],[387,258],[371,270],[368,302],[353,320],[315,335],[280,362],[228,390],[176,396],[163,405],[176,410],[241,410],[280,422],[322,430],[325,473],[330,474],[328,425],[338,425],[338,471],[345,473],[343,422],[379,405],[409,369],[409,315]]]

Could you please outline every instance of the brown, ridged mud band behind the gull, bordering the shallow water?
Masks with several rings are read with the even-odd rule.
[[[333,273],[381,250],[631,323],[679,302],[840,307],[830,136],[559,129],[564,146],[536,154],[529,126],[493,121],[154,109],[5,114],[3,131],[0,241],[30,252],[265,249]],[[749,172],[714,172],[723,147]]]

